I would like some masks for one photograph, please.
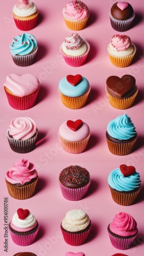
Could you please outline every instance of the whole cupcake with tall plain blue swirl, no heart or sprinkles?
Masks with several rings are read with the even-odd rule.
[[[131,118],[124,114],[111,120],[107,125],[106,140],[109,151],[117,156],[132,152],[137,132]]]

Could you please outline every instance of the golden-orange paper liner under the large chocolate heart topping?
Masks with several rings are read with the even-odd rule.
[[[112,96],[108,92],[107,88],[106,88],[106,93],[107,93],[109,103],[111,104],[111,106],[113,106],[113,108],[118,109],[118,110],[126,110],[126,109],[129,109],[133,105],[133,102],[138,93],[138,88],[136,89],[136,92],[133,95],[131,95],[130,97],[125,98],[125,99],[118,99],[118,98]]]

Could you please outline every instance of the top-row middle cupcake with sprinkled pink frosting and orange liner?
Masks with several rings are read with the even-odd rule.
[[[88,7],[79,0],[72,0],[62,10],[67,28],[82,30],[87,24],[89,17]]]

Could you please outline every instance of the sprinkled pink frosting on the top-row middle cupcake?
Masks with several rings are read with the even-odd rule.
[[[63,9],[64,15],[70,19],[81,20],[89,15],[87,6],[78,0],[70,1]]]

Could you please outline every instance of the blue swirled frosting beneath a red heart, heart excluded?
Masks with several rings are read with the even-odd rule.
[[[108,184],[111,188],[118,191],[131,191],[141,184],[139,173],[124,177],[119,168],[112,170],[108,176]]]

